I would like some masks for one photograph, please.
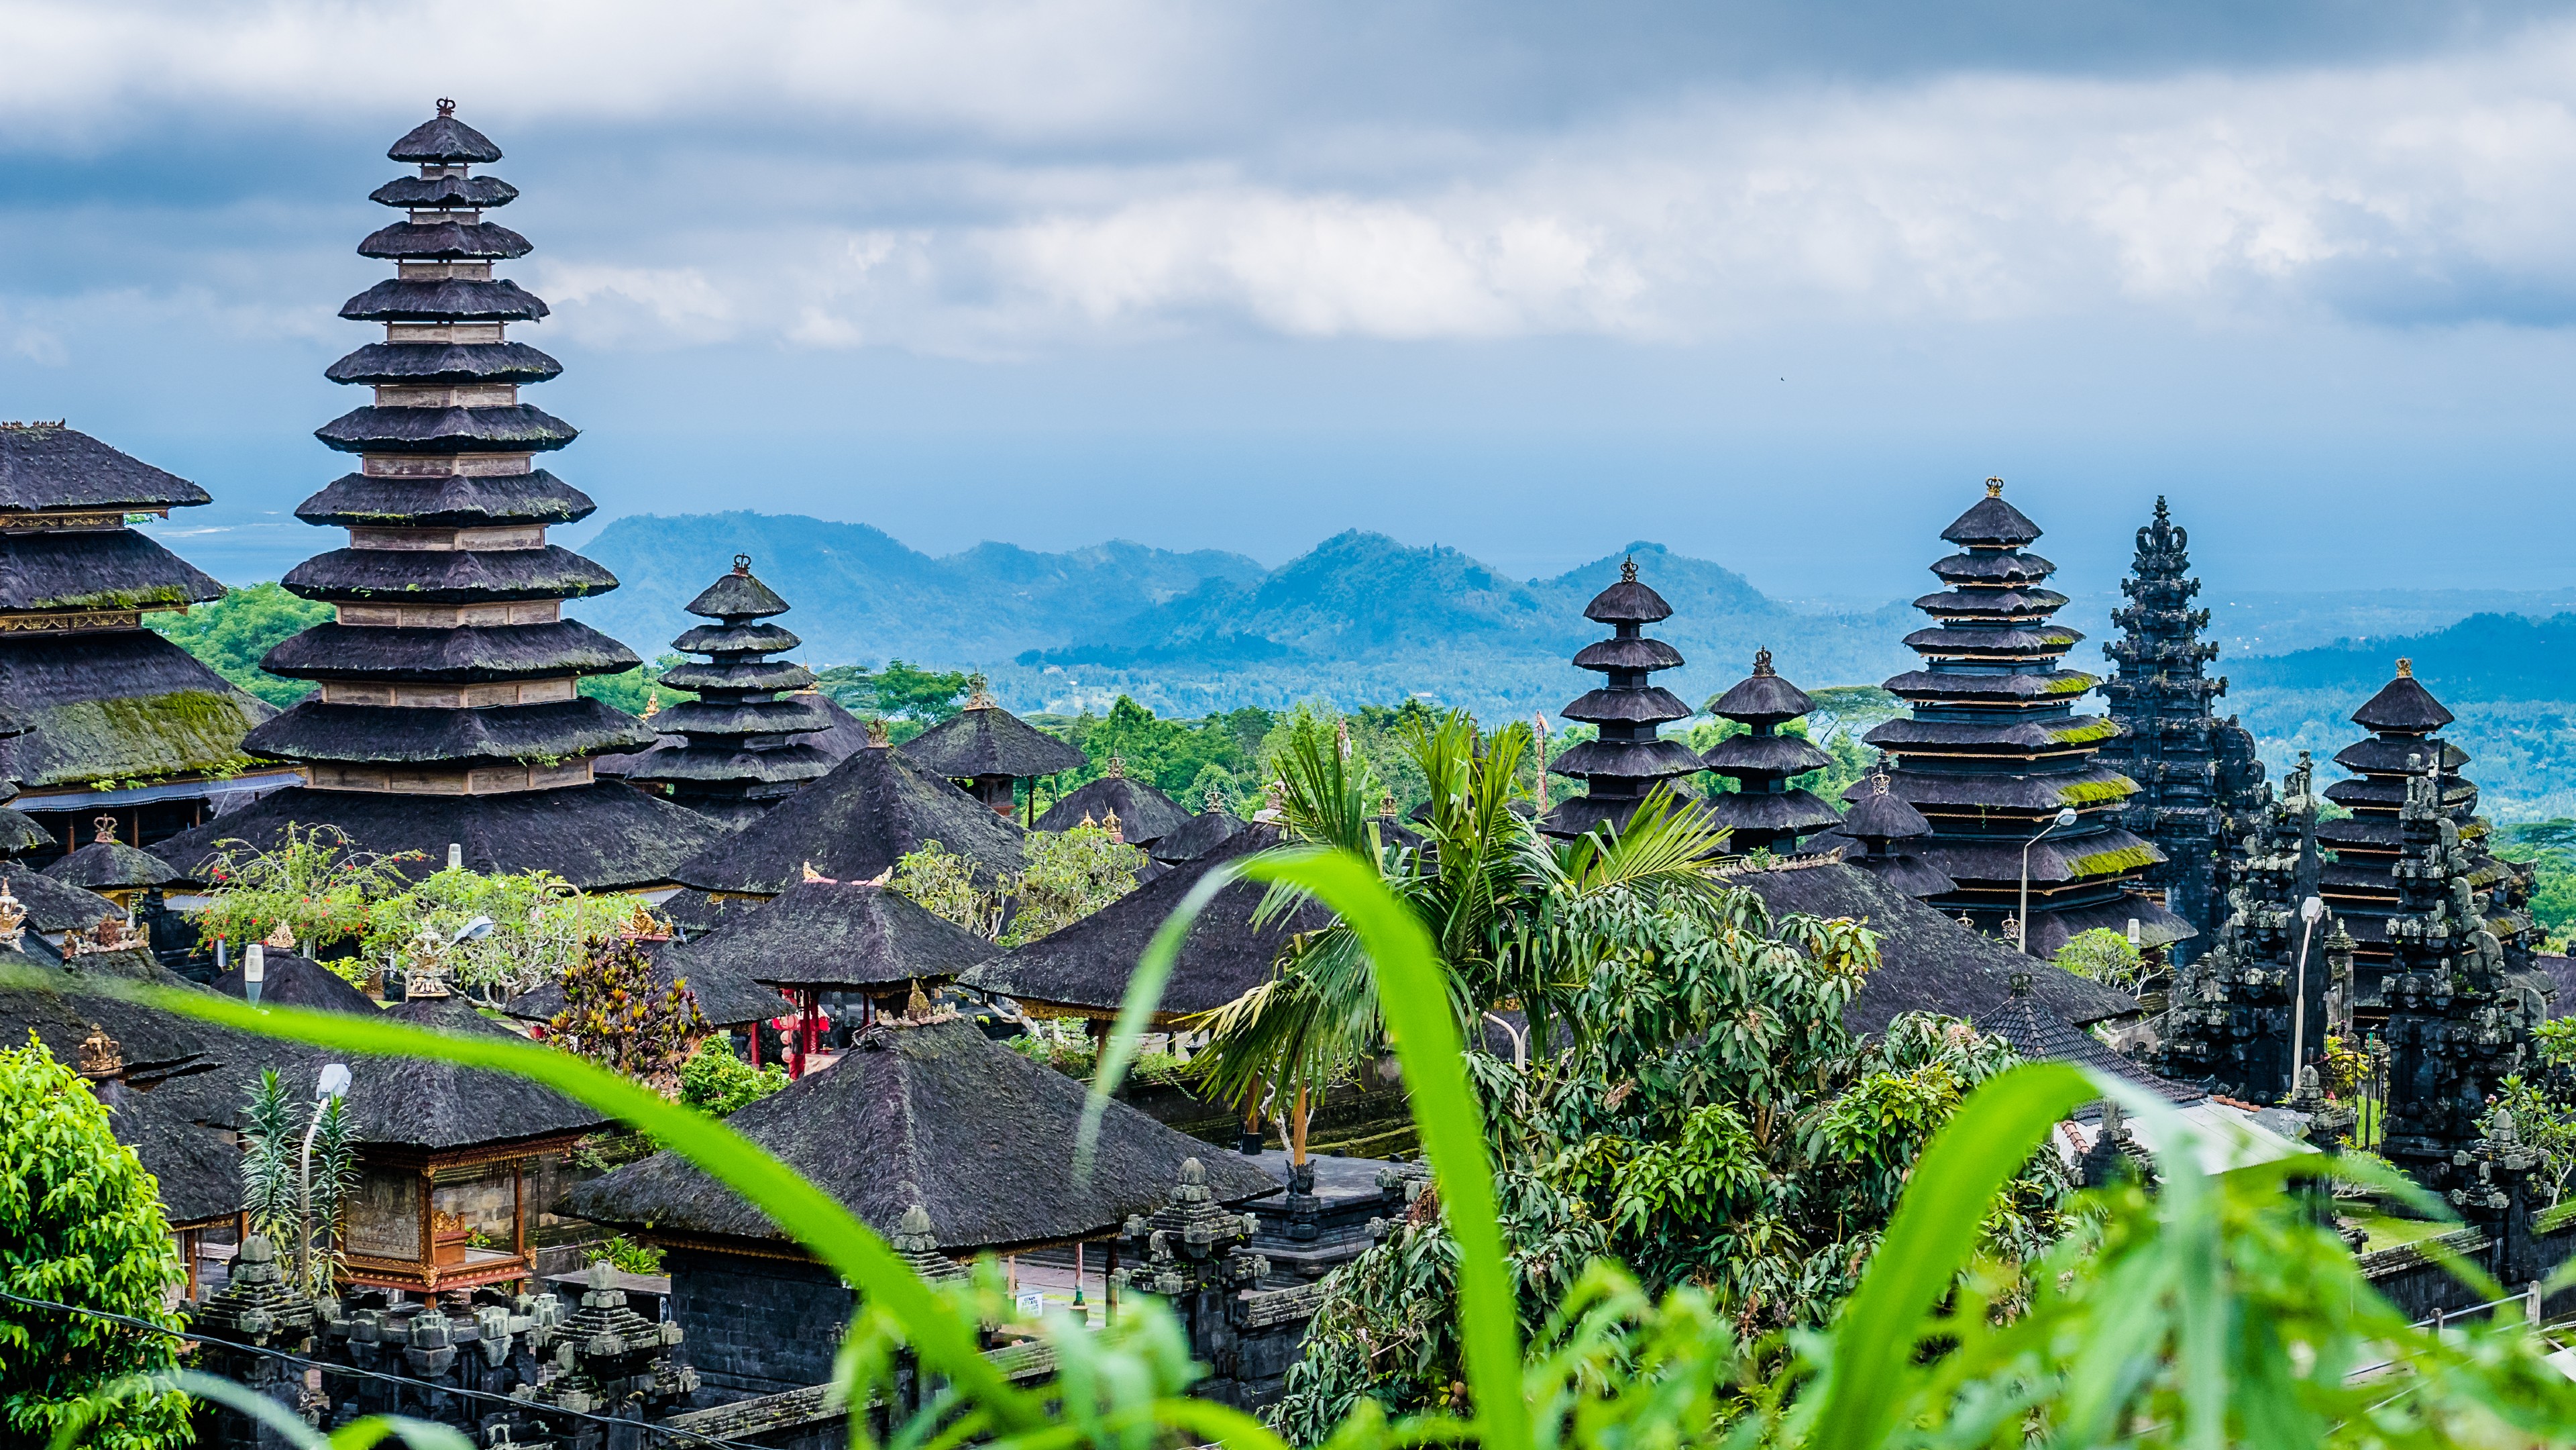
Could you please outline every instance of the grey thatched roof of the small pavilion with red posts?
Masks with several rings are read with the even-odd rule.
[[[886,992],[956,976],[999,950],[884,886],[796,881],[757,912],[670,948],[670,963],[693,981],[706,974],[822,992]]]

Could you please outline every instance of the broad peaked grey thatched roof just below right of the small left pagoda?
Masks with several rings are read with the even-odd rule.
[[[677,881],[775,896],[804,881],[806,865],[835,881],[871,881],[933,840],[987,871],[1020,868],[1020,827],[904,752],[876,747],[683,863]]]

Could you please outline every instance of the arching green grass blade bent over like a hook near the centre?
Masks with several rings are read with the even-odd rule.
[[[1448,1229],[1458,1241],[1458,1339],[1466,1344],[1466,1380],[1476,1398],[1476,1442],[1484,1450],[1525,1450],[1530,1419],[1520,1404],[1520,1308],[1512,1301],[1512,1277],[1502,1259],[1502,1221],[1494,1208],[1494,1162],[1484,1151],[1484,1115],[1466,1084],[1466,1043],[1450,1015],[1450,994],[1430,932],[1365,860],[1347,850],[1273,850],[1218,865],[1182,899],[1180,909],[1154,932],[1154,943],[1136,963],[1136,976],[1128,979],[1118,1028],[1092,1079],[1092,1102],[1082,1120],[1084,1151],[1097,1133],[1108,1095],[1118,1089],[1128,1064],[1136,1061],[1139,1038],[1172,976],[1180,943],[1188,940],[1198,912],[1236,878],[1311,891],[1360,935],[1360,945],[1376,963],[1378,1010],[1396,1040],[1404,1089],[1414,1105],[1414,1123],[1422,1128],[1422,1151],[1432,1162],[1440,1203],[1448,1208]]]

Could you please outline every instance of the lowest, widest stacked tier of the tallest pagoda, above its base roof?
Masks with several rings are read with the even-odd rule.
[[[546,706],[440,711],[348,706],[307,698],[242,737],[252,755],[353,765],[518,765],[603,749],[641,749],[659,739],[626,711],[580,695]]]

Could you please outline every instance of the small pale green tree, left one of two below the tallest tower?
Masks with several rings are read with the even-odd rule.
[[[358,940],[368,935],[384,901],[412,889],[402,863],[420,860],[417,850],[392,855],[358,850],[340,827],[296,822],[286,822],[286,840],[270,850],[247,840],[222,840],[214,850],[196,930],[206,940],[232,943],[234,950],[268,940],[281,925],[304,953]],[[363,979],[368,963],[337,961],[332,971]]]

